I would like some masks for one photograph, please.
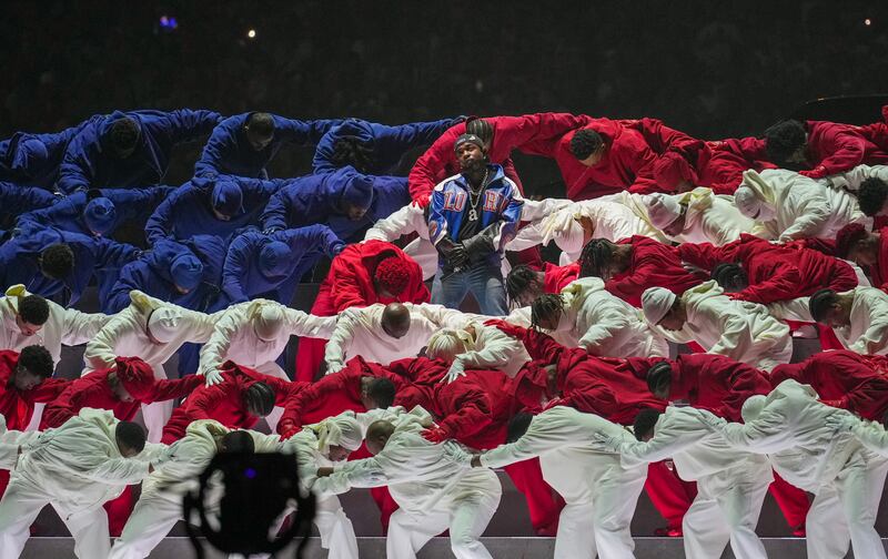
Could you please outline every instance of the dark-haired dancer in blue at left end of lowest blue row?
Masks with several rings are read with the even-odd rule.
[[[109,238],[26,222],[0,246],[0,283],[24,284],[31,293],[74,305],[93,276],[104,297],[120,270],[140,253]]]

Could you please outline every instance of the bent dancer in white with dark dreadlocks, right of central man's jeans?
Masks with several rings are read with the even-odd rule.
[[[568,335],[573,338],[568,346],[598,357],[669,355],[666,339],[648,326],[642,312],[607,292],[598,277],[576,280],[561,295],[543,295],[531,305],[531,313],[537,326]]]

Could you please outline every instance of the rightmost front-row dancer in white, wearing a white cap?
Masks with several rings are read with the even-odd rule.
[[[833,416],[845,414],[790,379],[746,400],[745,424],[717,419],[713,427],[735,448],[767,454],[780,477],[815,494],[806,519],[809,558],[844,558],[851,543],[855,557],[885,559],[874,525],[888,459],[830,427]]]

